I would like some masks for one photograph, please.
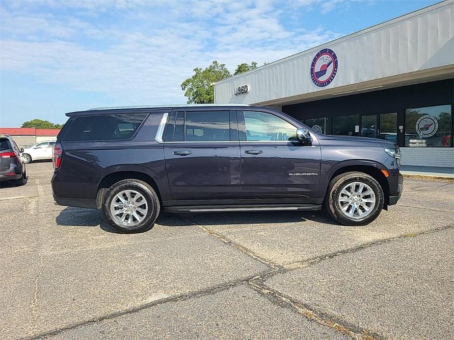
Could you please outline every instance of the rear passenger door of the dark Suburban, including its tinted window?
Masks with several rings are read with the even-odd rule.
[[[166,129],[164,158],[172,204],[239,204],[235,110],[174,110]]]

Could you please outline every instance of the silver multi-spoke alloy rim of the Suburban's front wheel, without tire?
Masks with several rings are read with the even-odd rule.
[[[347,184],[339,194],[339,207],[350,219],[362,219],[375,207],[375,194],[370,186],[362,182]]]

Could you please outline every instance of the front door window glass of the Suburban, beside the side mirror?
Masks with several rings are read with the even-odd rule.
[[[295,141],[296,127],[266,112],[244,111],[246,141]]]

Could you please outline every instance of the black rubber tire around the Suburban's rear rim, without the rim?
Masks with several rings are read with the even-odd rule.
[[[111,216],[110,203],[116,194],[123,190],[134,190],[143,195],[147,201],[148,212],[145,219],[139,224],[132,227],[127,227],[118,224]],[[152,208],[152,209],[150,209]],[[115,230],[124,234],[141,233],[151,229],[158,218],[160,212],[160,202],[158,195],[153,188],[143,181],[137,179],[125,179],[112,185],[103,197],[102,203],[103,216],[107,223]]]

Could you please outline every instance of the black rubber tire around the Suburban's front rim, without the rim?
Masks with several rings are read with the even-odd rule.
[[[375,195],[375,205],[372,211],[364,218],[353,219],[348,217],[341,210],[339,204],[339,195],[342,189],[350,183],[360,182],[367,184]],[[366,225],[371,223],[374,219],[380,215],[381,210],[385,202],[383,189],[380,184],[375,180],[374,177],[364,172],[346,172],[334,177],[329,183],[327,194],[325,197],[325,208],[329,215],[336,221],[344,225]],[[351,209],[353,210],[353,209]]]

